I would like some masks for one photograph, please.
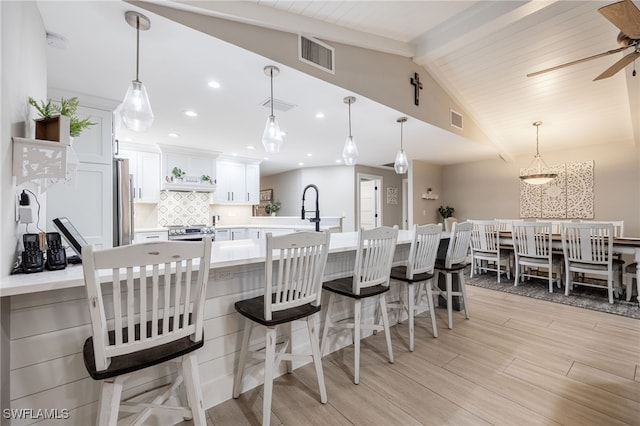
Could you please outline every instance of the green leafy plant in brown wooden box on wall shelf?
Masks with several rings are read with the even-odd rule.
[[[91,122],[91,116],[80,118],[76,115],[80,104],[76,97],[60,98],[59,104],[51,99],[38,103],[29,97],[29,104],[40,114],[35,120],[36,139],[68,143],[70,138],[80,136],[83,130],[96,124]]]

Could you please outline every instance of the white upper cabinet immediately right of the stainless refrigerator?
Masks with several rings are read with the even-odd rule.
[[[121,149],[120,157],[129,159],[129,173],[133,175],[133,201],[160,201],[160,153]]]

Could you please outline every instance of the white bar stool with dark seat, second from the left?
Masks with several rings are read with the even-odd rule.
[[[264,360],[264,394],[262,424],[269,425],[273,378],[280,361],[293,370],[293,361],[312,361],[316,371],[320,402],[327,403],[327,390],[322,371],[322,357],[318,339],[318,316],[322,296],[322,276],[327,263],[329,231],[297,232],[281,236],[266,234],[264,294],[235,303],[236,311],[245,317],[238,368],[233,381],[233,397],[242,391],[242,376],[249,357]],[[291,335],[276,353],[277,328],[293,321],[305,320],[309,333],[311,354],[294,354]],[[249,351],[253,325],[265,329],[265,343],[261,349]]]

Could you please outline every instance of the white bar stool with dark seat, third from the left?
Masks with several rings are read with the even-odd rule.
[[[356,385],[360,382],[360,339],[362,330],[384,330],[389,362],[394,362],[385,293],[389,291],[391,264],[397,240],[397,225],[393,228],[388,226],[368,230],[361,228],[358,231],[358,247],[356,249],[353,273],[344,278],[327,281],[322,285],[323,290],[329,293],[329,304],[325,313],[321,353],[323,355],[327,353],[330,329],[353,329],[353,383]],[[349,319],[339,322],[332,321],[331,315],[336,304],[336,296],[347,297],[353,302],[352,322]],[[369,298],[375,299],[379,304],[382,324],[376,323],[375,318],[373,324],[363,322],[362,301]]]

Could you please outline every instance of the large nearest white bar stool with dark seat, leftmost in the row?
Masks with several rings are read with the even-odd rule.
[[[151,414],[206,424],[194,351],[204,344],[210,262],[210,237],[82,248],[92,329],[82,353],[89,375],[102,382],[96,424],[116,425],[119,411],[137,413],[130,424],[141,424]],[[104,273],[110,273],[110,282],[101,280]],[[178,374],[165,392],[156,392],[151,402],[121,401],[124,384],[134,372],[166,361],[177,364]],[[187,404],[162,405],[180,385]],[[185,398],[178,394],[178,401]]]

